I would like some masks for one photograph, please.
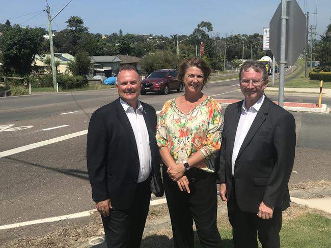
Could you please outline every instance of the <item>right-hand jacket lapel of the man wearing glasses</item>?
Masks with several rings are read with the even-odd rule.
[[[252,126],[251,126],[250,130],[247,132],[247,135],[246,135],[245,139],[242,142],[242,145],[241,145],[240,150],[238,152],[237,159],[239,158],[242,151],[247,147],[247,145],[250,144],[250,142],[253,139],[253,137],[255,136],[256,132],[259,130],[262,123],[265,121],[266,115],[268,114],[269,105],[270,105],[270,100],[267,97],[265,97],[261,108],[259,109],[257,115],[255,116],[255,119],[253,120],[253,123],[252,123]]]

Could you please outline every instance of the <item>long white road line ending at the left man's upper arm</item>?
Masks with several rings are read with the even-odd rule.
[[[71,138],[74,138],[74,137],[77,137],[77,136],[85,135],[87,133],[88,133],[88,130],[83,130],[83,131],[79,131],[79,132],[76,132],[76,133],[60,136],[60,137],[57,137],[57,138],[44,140],[44,141],[40,141],[40,142],[33,143],[33,144],[30,144],[30,145],[24,145],[24,146],[17,147],[17,148],[11,149],[11,150],[3,151],[3,152],[0,152],[0,158],[4,158],[4,157],[7,157],[7,156],[10,156],[10,155],[22,152],[22,151],[31,150],[31,149],[41,147],[41,146],[44,146],[44,145],[57,143],[57,142],[67,140],[67,139],[71,139]]]

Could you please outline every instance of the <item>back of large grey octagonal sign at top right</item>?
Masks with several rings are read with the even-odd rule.
[[[295,0],[287,2],[286,13],[286,46],[285,60],[288,66],[294,65],[296,59],[305,47],[306,16]],[[281,58],[281,16],[282,4],[274,12],[270,20],[270,49],[276,61]]]

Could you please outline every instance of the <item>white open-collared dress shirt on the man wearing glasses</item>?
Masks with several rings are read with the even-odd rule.
[[[264,101],[264,95],[252,106],[249,110],[246,109],[246,101],[244,100],[241,107],[241,115],[238,122],[236,137],[234,140],[234,146],[233,146],[233,152],[232,152],[232,176],[234,176],[234,165],[236,163],[236,159],[240,150],[240,147],[242,145],[242,142],[244,141],[248,131],[250,130],[252,123],[259,111],[259,109],[262,106],[262,103]]]

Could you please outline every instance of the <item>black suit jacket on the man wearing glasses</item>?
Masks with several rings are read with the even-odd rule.
[[[231,158],[243,101],[231,104],[224,115],[219,182],[232,192]],[[267,97],[239,150],[234,171],[236,199],[242,211],[257,213],[260,203],[289,207],[288,181],[294,163],[295,120]]]

